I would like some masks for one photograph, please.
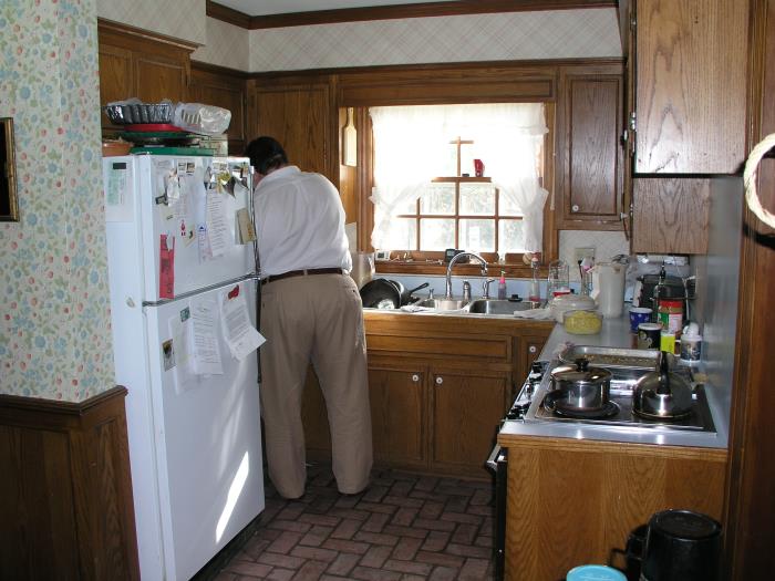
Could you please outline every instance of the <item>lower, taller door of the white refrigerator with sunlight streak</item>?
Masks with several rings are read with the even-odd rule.
[[[235,359],[220,320],[196,340],[209,353],[198,371],[209,374],[187,361],[190,344],[178,344],[182,325],[199,310],[218,313],[219,302],[244,299],[255,324],[255,287],[244,281],[144,309],[165,579],[189,579],[264,510],[256,352]]]

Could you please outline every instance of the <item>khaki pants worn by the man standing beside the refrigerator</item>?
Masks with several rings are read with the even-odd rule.
[[[307,479],[301,395],[310,361],[331,426],[332,469],[341,492],[369,484],[371,411],[363,311],[342,274],[290,277],[261,288],[261,415],[269,477],[286,498]]]

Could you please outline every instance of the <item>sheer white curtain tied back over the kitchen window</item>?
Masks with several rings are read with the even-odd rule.
[[[502,196],[523,211],[524,248],[541,251],[544,203],[537,153],[547,133],[540,103],[371,107],[374,135],[374,248],[390,248],[393,218],[430,193],[443,173],[450,141],[472,139]],[[464,146],[465,147],[465,146]]]

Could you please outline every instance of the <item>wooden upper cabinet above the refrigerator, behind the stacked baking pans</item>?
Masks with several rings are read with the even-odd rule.
[[[101,106],[130,97],[146,103],[188,101],[194,44],[102,20],[97,34]],[[121,128],[113,126],[104,113],[102,126]]]

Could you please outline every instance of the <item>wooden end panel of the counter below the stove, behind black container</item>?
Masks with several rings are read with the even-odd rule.
[[[506,579],[557,581],[579,564],[623,569],[627,538],[654,512],[721,520],[726,450],[512,437]]]

